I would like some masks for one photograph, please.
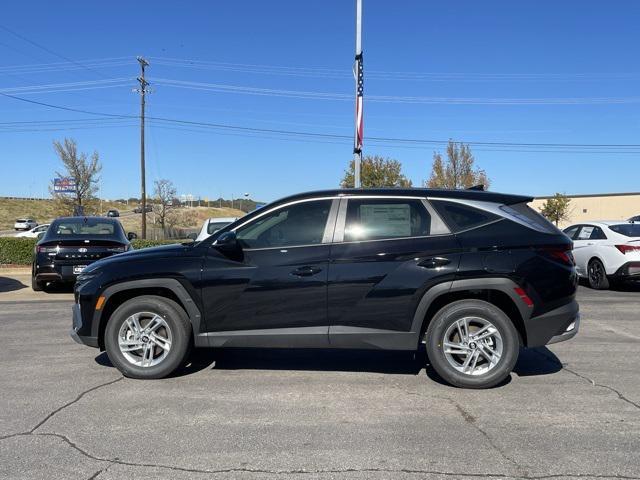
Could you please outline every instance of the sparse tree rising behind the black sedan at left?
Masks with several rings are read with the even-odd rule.
[[[56,210],[62,215],[71,215],[76,206],[84,209],[85,213],[95,213],[98,209],[96,192],[100,181],[100,157],[93,152],[91,157],[78,152],[75,140],[65,138],[63,143],[54,140],[53,148],[60,157],[65,172],[56,171],[57,177],[68,177],[75,180],[75,193],[59,193],[49,187],[53,196]]]

